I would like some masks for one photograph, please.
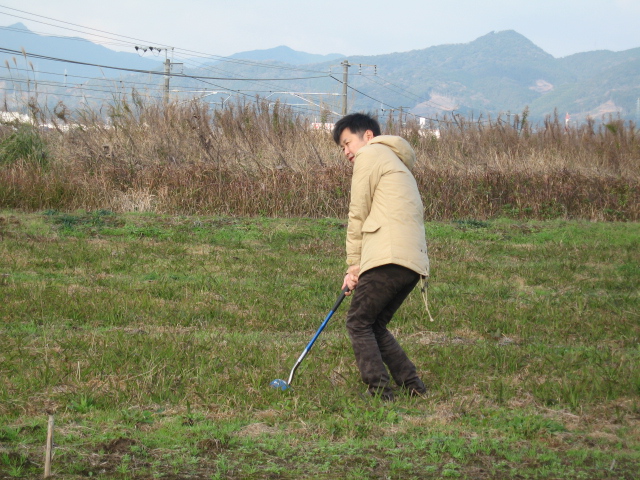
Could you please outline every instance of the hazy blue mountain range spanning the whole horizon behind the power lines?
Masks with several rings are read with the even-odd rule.
[[[150,59],[135,53],[115,52],[82,39],[45,37],[17,31],[20,28],[26,29],[21,24],[0,28],[0,45],[14,50],[24,47],[28,52],[87,63],[162,71],[162,58]],[[19,57],[15,63],[24,67],[25,61]],[[15,65],[10,55],[3,55],[3,58],[8,60],[10,66]],[[0,60],[3,58],[0,57]],[[309,102],[309,108],[318,108],[312,105],[324,105],[324,108],[339,112],[342,99],[337,93],[341,91],[342,69],[334,67],[340,60],[347,59],[354,65],[349,71],[349,111],[367,110],[386,115],[389,109],[397,110],[402,106],[404,112],[428,118],[452,112],[477,118],[509,116],[528,108],[529,118],[535,121],[553,115],[554,111],[563,118],[565,113],[570,113],[572,121],[609,114],[640,120],[640,48],[622,52],[584,52],[555,58],[523,35],[507,30],[491,32],[464,44],[438,45],[385,55],[317,55],[279,46],[240,52],[226,59],[238,60],[225,63],[224,76],[229,80],[218,78],[219,71],[213,70],[216,73],[212,74],[209,69],[213,62],[223,60],[221,57],[217,57],[217,60],[212,57],[204,62],[200,58],[201,67],[185,68],[185,77],[171,79],[172,89],[202,92],[203,89],[213,90],[211,86],[215,85],[216,90],[221,90],[220,95],[229,95],[229,92],[246,89],[247,83],[240,78],[306,76],[309,79],[283,83],[286,85],[283,89],[292,92],[326,92],[326,97],[314,97]],[[142,83],[144,76],[145,84],[149,85],[147,88],[155,88],[156,93],[162,88],[161,75],[127,74],[42,60],[32,63],[39,72],[37,79],[44,78],[45,72],[51,72],[60,81],[61,71],[68,71],[70,83],[74,81],[71,75],[79,76],[77,83],[87,81],[86,78],[80,78],[83,76]],[[260,63],[270,68],[261,67]],[[357,64],[376,65],[376,70],[374,72],[366,66],[355,67]],[[292,75],[292,70],[301,66],[304,66],[301,72],[305,73]],[[316,71],[322,74],[331,69],[334,73],[332,77],[308,73]],[[340,75],[336,75],[338,72]],[[216,81],[202,82],[188,78],[189,75],[214,75]],[[6,77],[0,86],[8,88],[11,83]],[[90,86],[91,82],[84,85]],[[273,81],[269,82],[268,87],[269,90],[273,89]],[[56,98],[56,92],[62,95],[64,90],[52,89],[51,99]],[[285,103],[291,100],[284,94],[271,97],[276,98]],[[73,106],[72,99],[61,96],[60,100]],[[212,101],[211,97],[207,97],[207,100]],[[381,107],[385,113],[380,111]]]

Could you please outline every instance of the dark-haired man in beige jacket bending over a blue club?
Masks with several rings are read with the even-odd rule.
[[[347,265],[342,288],[353,290],[347,331],[370,395],[394,399],[389,372],[411,395],[426,393],[415,365],[387,324],[429,274],[423,206],[411,169],[415,153],[403,138],[380,135],[372,117],[340,119],[333,139],[353,164]]]

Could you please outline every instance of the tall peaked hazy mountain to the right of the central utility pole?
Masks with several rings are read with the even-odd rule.
[[[557,59],[514,31],[492,32],[467,44],[349,61],[377,64],[381,77],[415,95],[387,96],[387,103],[406,105],[427,117],[453,110],[495,116],[529,107],[535,120],[556,108],[563,115],[571,112],[574,120],[607,113],[633,119],[640,97],[640,49]],[[354,79],[354,88],[365,85]],[[380,98],[385,90],[369,86],[367,93]]]

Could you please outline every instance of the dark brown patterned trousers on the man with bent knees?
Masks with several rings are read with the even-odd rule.
[[[391,317],[419,279],[416,272],[389,264],[367,270],[358,280],[347,314],[347,331],[362,381],[373,395],[393,398],[385,364],[398,386],[424,389],[415,365],[387,330]]]

